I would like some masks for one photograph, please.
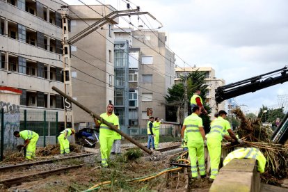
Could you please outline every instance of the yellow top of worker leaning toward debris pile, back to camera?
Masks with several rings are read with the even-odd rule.
[[[227,134],[228,129],[231,129],[230,123],[222,117],[218,117],[213,120],[213,122],[211,122],[211,129],[209,134],[206,135],[206,137],[215,138],[218,141],[222,141],[223,136]]]

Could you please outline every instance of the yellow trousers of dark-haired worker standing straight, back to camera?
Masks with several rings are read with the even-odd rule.
[[[200,175],[205,175],[205,157],[204,157],[204,142],[201,140],[189,140],[188,138],[188,150],[191,163],[192,177],[198,177],[198,168]],[[197,167],[198,159],[198,167]]]

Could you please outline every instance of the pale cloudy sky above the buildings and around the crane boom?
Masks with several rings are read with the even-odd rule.
[[[125,10],[127,1],[99,0]],[[77,0],[65,0],[81,4]],[[88,4],[99,4],[86,0]],[[213,67],[216,77],[234,83],[288,65],[288,1],[286,0],[131,0],[131,8],[154,15],[168,34],[168,46],[181,67]],[[149,17],[145,24],[157,28]],[[136,17],[131,22],[138,26]],[[145,25],[144,24],[144,25]],[[129,26],[120,22],[121,27]],[[184,60],[185,63],[182,61]],[[288,82],[236,97],[246,113],[278,108]],[[287,101],[288,102],[288,101]]]

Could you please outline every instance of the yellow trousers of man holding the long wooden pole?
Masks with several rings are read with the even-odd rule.
[[[99,136],[100,152],[101,152],[101,165],[108,166],[107,159],[110,157],[111,148],[114,142],[114,136],[102,135]]]

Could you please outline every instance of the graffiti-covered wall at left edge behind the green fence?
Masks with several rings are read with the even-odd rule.
[[[4,148],[13,150],[17,146],[13,133],[20,128],[20,106],[0,101],[0,109],[4,109]]]

